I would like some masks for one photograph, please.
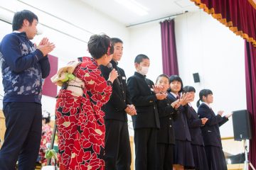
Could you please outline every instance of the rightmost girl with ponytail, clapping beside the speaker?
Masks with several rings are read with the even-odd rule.
[[[213,103],[213,92],[209,89],[201,90],[196,105],[198,106],[199,118],[208,118],[206,125],[201,128],[208,160],[208,169],[226,170],[227,164],[222,150],[219,127],[226,123],[232,114],[222,117],[223,111],[218,111],[218,114],[215,115],[210,107],[210,103]]]

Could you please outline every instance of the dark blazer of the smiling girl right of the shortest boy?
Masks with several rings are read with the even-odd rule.
[[[177,99],[169,93],[167,98],[171,102],[176,101]],[[188,130],[188,121],[187,118],[189,118],[189,113],[188,113],[188,106],[180,106],[178,108],[178,116],[177,119],[174,122],[174,133],[175,133],[175,139],[176,140],[188,140],[191,141],[191,135]]]

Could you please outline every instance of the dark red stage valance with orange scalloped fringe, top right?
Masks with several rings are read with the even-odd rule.
[[[191,1],[256,47],[256,7],[252,0]]]

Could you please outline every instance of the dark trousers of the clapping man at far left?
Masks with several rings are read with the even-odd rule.
[[[35,169],[41,132],[42,109],[39,103],[7,102],[3,107],[6,118],[4,144],[0,150],[0,169]]]

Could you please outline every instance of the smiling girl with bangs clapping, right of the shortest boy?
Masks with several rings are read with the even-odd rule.
[[[170,89],[171,92],[168,94],[168,98],[171,102],[179,101],[181,106],[178,108],[178,117],[174,122],[174,132],[175,132],[175,147],[174,147],[174,169],[193,169],[193,152],[191,149],[191,135],[188,130],[188,118],[191,116],[188,113],[187,103],[190,101],[188,94],[183,94],[181,92],[183,89],[183,84],[181,77],[177,75],[172,75],[170,78]]]

